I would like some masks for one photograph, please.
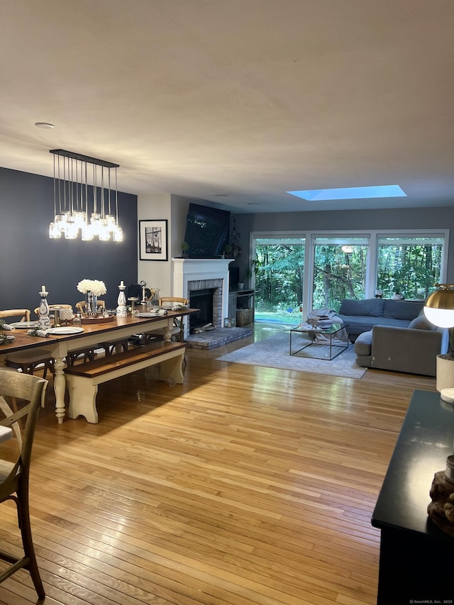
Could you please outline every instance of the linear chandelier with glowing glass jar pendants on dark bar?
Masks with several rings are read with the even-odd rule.
[[[54,155],[54,215],[49,237],[84,241],[123,241],[118,224],[118,164],[64,149]],[[111,182],[114,170],[114,189]]]

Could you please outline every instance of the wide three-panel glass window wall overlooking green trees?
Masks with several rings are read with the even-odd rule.
[[[296,323],[301,302],[307,316],[321,307],[338,311],[344,298],[373,298],[376,289],[384,298],[400,291],[426,299],[445,282],[448,241],[448,229],[251,233],[256,311]]]

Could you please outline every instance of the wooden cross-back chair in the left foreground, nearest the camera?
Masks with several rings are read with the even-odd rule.
[[[16,438],[18,445],[15,460],[0,459],[0,503],[12,500],[16,504],[23,545],[23,556],[20,557],[0,550],[0,559],[9,563],[9,567],[0,573],[0,582],[4,582],[18,570],[28,570],[39,599],[45,598],[45,591],[33,547],[28,477],[35,427],[47,385],[48,381],[38,376],[0,369],[0,425],[12,428],[13,438]],[[16,399],[20,403],[19,409],[13,411],[5,397]],[[22,429],[23,423],[25,428]]]

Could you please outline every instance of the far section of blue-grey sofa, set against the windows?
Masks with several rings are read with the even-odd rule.
[[[338,316],[350,326],[350,340],[355,342],[362,332],[373,326],[408,328],[412,319],[423,311],[423,302],[394,301],[388,299],[344,299]]]

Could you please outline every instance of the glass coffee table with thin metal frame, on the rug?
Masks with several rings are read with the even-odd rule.
[[[301,355],[301,357],[313,357],[314,359],[333,360],[348,349],[348,336],[350,326],[348,323],[333,323],[328,328],[313,328],[312,326],[297,326],[290,330],[290,355],[298,355],[308,347],[316,347],[319,355]],[[301,336],[297,347],[295,347],[295,336]],[[293,339],[293,343],[292,343]],[[302,346],[301,346],[302,345]]]

